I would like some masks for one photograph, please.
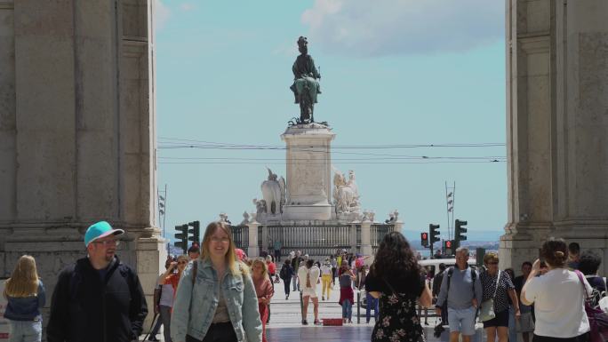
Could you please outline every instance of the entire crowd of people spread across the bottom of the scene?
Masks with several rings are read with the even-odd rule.
[[[131,266],[116,256],[124,234],[101,221],[84,235],[87,255],[58,275],[46,327],[50,342],[137,340],[148,314],[140,279]],[[276,251],[275,251],[276,255]],[[540,258],[526,261],[521,275],[500,270],[499,256],[484,255],[484,266],[469,265],[469,253],[459,248],[456,265],[437,270],[420,266],[416,251],[398,232],[385,235],[373,262],[365,256],[337,251],[321,261],[292,251],[277,272],[272,255],[247,258],[237,249],[230,228],[210,223],[200,246],[188,255],[168,258],[154,294],[156,326],[149,340],[164,326],[167,342],[266,341],[274,284],[284,282],[285,299],[292,291],[302,298],[301,324],[308,325],[312,303],[313,324],[321,300],[330,300],[340,288],[342,322],[352,322],[354,289],[365,289],[366,322],[375,319],[372,341],[422,341],[420,308],[435,307],[441,317],[436,331],[449,327],[450,342],[469,342],[476,322],[483,322],[487,341],[595,342],[598,328],[588,319],[587,307],[598,307],[606,291],[597,275],[602,259],[593,251],[580,252],[577,243],[549,238]],[[36,260],[22,256],[5,282],[8,300],[4,317],[11,341],[40,341],[44,284]],[[426,315],[425,315],[426,322]],[[600,327],[601,328],[601,327]]]

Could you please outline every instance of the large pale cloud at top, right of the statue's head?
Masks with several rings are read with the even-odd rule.
[[[464,51],[504,36],[498,0],[316,0],[308,42],[358,57]]]

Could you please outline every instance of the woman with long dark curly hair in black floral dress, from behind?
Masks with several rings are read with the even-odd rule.
[[[419,341],[424,337],[416,302],[431,306],[431,292],[414,251],[399,232],[384,236],[365,289],[380,301],[380,317],[372,341]]]

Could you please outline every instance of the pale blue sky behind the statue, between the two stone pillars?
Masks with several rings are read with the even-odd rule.
[[[199,147],[283,146],[287,121],[299,115],[289,90],[299,36],[308,36],[321,67],[316,119],[331,124],[334,146],[505,143],[502,2],[155,5],[158,185],[168,187],[171,235],[175,225],[206,224],[222,211],[241,221],[244,211],[254,211],[252,198],[261,197],[266,167],[284,175],[284,150],[164,147],[185,142],[177,139]],[[507,222],[504,146],[334,151],[340,171],[356,171],[364,209],[378,220],[397,209],[412,239],[428,223],[446,226],[445,181],[456,182],[455,216],[468,220],[471,237]],[[421,156],[486,158],[436,163],[456,160]]]

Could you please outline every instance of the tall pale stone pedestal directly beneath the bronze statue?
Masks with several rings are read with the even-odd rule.
[[[330,220],[332,205],[332,139],[328,127],[319,123],[299,124],[285,130],[287,189],[283,220]]]

